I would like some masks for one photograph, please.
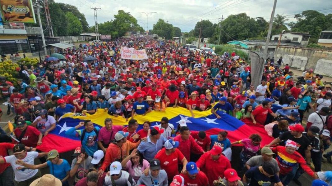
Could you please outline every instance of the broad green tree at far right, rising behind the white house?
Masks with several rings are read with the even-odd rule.
[[[315,10],[306,10],[301,14],[296,14],[294,18],[296,23],[290,23],[290,28],[293,32],[309,32],[310,42],[317,42],[321,31],[326,30],[332,24],[329,15],[325,16]]]

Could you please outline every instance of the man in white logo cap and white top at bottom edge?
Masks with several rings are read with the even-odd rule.
[[[105,177],[105,185],[134,186],[135,180],[124,170],[121,170],[120,162],[113,162],[110,165],[110,176]]]

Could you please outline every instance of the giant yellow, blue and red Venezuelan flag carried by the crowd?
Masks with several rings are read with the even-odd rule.
[[[159,124],[161,118],[166,116],[169,119],[169,123],[173,124],[175,128],[178,126],[179,120],[184,119],[190,130],[204,130],[209,135],[217,134],[222,130],[227,130],[227,137],[231,142],[248,138],[250,134],[254,133],[258,133],[262,136],[262,146],[273,140],[273,138],[269,137],[265,132],[264,126],[244,124],[235,117],[229,116],[221,111],[217,111],[218,115],[221,116],[220,119],[217,119],[210,110],[193,112],[195,117],[191,117],[189,110],[185,108],[166,108],[165,112],[152,111],[145,116],[134,116],[134,119],[136,119],[139,124],[143,124],[144,121],[150,121],[153,126]],[[94,115],[88,116],[74,116],[73,113],[66,113],[62,116],[59,123],[56,124],[56,128],[43,138],[42,144],[38,146],[37,149],[44,152],[56,149],[59,153],[74,150],[76,147],[81,146],[80,138],[67,136],[65,131],[75,127],[80,121],[88,119],[91,120],[95,126],[101,128],[105,126],[104,121],[106,118],[112,118],[114,125],[128,124],[123,117],[110,116],[104,109],[98,109]],[[142,126],[138,129],[141,128]]]

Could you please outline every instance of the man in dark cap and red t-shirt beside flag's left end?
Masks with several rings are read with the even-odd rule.
[[[16,138],[26,147],[34,148],[41,145],[42,133],[33,126],[28,126],[25,120],[18,120],[14,133]]]

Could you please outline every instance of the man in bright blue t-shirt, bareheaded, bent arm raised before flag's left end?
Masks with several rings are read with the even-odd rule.
[[[78,129],[83,127],[85,129]],[[77,130],[78,129],[78,130]],[[66,135],[80,137],[82,147],[85,152],[93,157],[93,154],[98,150],[97,136],[100,128],[94,127],[91,120],[81,121],[78,125],[66,131]]]

